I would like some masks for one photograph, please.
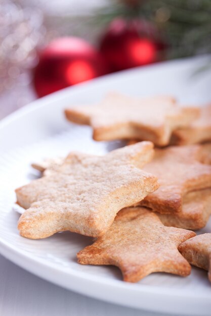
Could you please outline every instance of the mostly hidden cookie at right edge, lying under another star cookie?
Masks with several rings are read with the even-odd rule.
[[[198,230],[203,228],[211,215],[211,188],[187,193],[181,212],[156,213],[165,226]]]

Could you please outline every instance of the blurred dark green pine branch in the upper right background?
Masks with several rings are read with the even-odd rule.
[[[211,0],[119,0],[98,11],[96,23],[145,19],[166,41],[169,58],[211,52]]]

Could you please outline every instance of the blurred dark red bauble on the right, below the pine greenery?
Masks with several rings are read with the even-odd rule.
[[[146,21],[115,19],[100,42],[100,51],[111,71],[151,64],[159,60],[164,45]]]

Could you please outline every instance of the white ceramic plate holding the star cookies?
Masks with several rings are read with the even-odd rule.
[[[156,273],[124,283],[114,267],[81,266],[76,253],[92,239],[70,232],[43,240],[20,237],[12,210],[14,189],[37,177],[30,164],[73,149],[105,153],[119,142],[94,142],[91,129],[65,121],[69,104],[93,103],[109,90],[131,95],[173,94],[183,103],[211,100],[211,73],[192,77],[204,60],[186,59],[120,72],[54,93],[0,123],[0,252],[24,269],[67,289],[122,305],[187,315],[210,315],[207,273],[193,268],[187,278]],[[5,105],[6,106],[6,105]],[[211,223],[201,231],[210,232]]]

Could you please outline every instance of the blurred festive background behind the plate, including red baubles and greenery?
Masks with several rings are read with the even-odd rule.
[[[82,81],[210,52],[211,0],[0,0],[0,119]]]

